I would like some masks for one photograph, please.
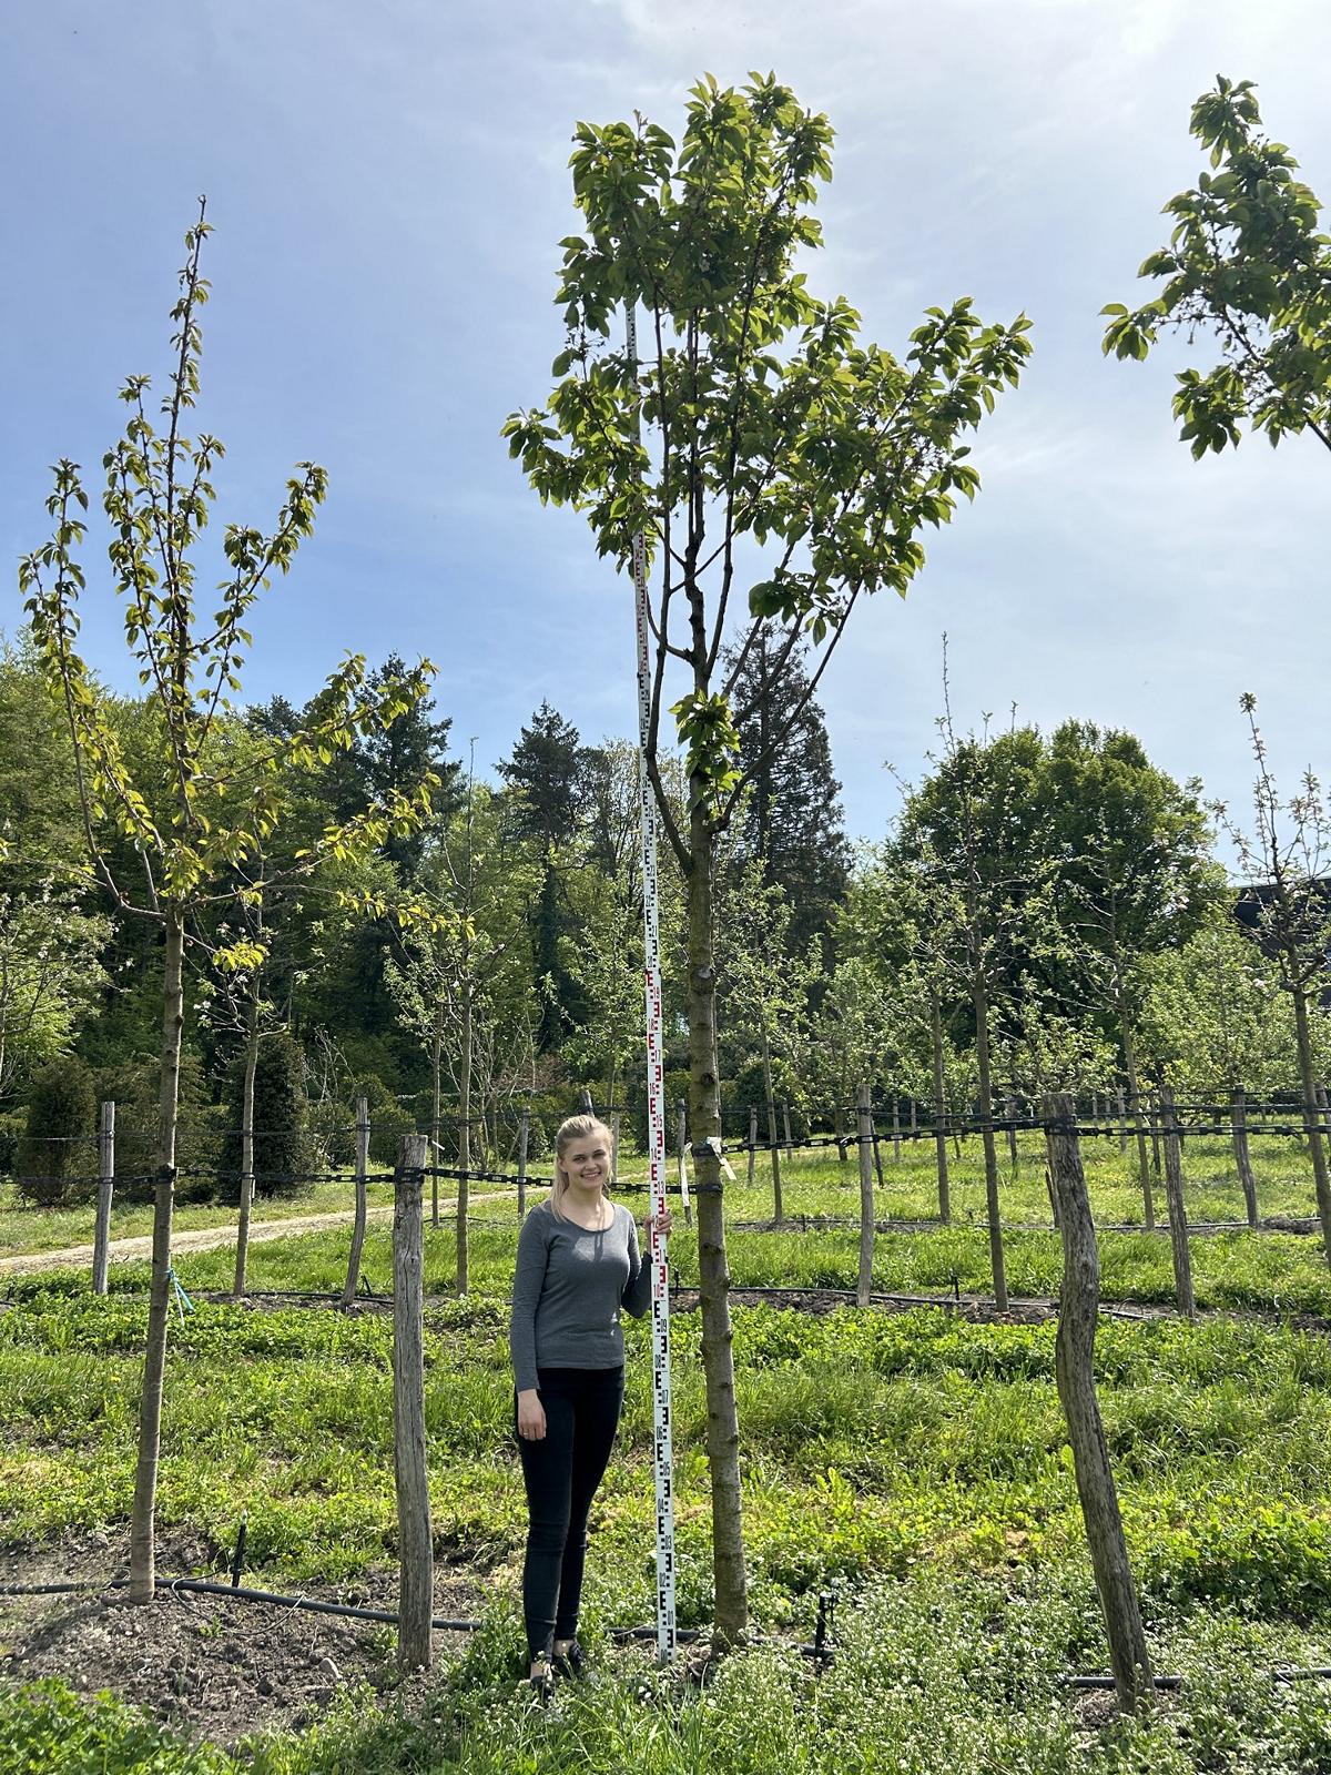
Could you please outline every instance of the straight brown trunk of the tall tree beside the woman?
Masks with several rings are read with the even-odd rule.
[[[735,1351],[729,1322],[726,1218],[721,1205],[721,1159],[710,1145],[721,1138],[721,1072],[717,1061],[717,978],[713,953],[713,840],[697,806],[706,785],[690,783],[689,872],[689,1127],[694,1136],[697,1195],[697,1283],[703,1312],[703,1374],[706,1379],[706,1456],[712,1470],[712,1564],[715,1576],[715,1638],[736,1645],[749,1628],[749,1582],[744,1569],[740,1511],[740,1420],[735,1402]],[[770,1093],[768,1093],[770,1102]],[[776,1148],[776,1140],[772,1141]]]

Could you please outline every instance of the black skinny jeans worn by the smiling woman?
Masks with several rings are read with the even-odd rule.
[[[532,1658],[548,1654],[554,1640],[571,1640],[579,1629],[587,1512],[619,1427],[625,1370],[538,1369],[536,1384],[545,1436],[518,1438],[529,1523],[522,1612]]]

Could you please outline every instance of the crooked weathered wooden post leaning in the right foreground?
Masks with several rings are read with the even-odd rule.
[[[1100,1306],[1100,1257],[1095,1248],[1091,1203],[1077,1143],[1075,1104],[1067,1093],[1045,1097],[1049,1179],[1063,1241],[1063,1287],[1058,1312],[1054,1369],[1058,1399],[1068,1427],[1077,1477],[1081,1518],[1091,1551],[1095,1589],[1109,1637],[1109,1665],[1123,1713],[1155,1699],[1155,1679],[1141,1624],[1138,1587],[1127,1557],[1123,1518],[1095,1397],[1095,1324]]]

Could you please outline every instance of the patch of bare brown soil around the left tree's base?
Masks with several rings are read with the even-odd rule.
[[[303,1731],[348,1692],[399,1688],[394,1629],[383,1622],[165,1587],[153,1603],[130,1603],[122,1589],[105,1587],[128,1569],[128,1530],[71,1532],[35,1551],[0,1548],[0,1587],[91,1585],[59,1596],[0,1594],[0,1683],[60,1677],[85,1697],[110,1690],[218,1745],[247,1732]],[[201,1541],[167,1534],[158,1537],[158,1566],[193,1576],[209,1560]],[[435,1613],[470,1619],[483,1590],[477,1578],[445,1567],[435,1578]],[[398,1580],[373,1573],[353,1594],[316,1587],[303,1594],[392,1610]],[[437,1656],[463,1644],[465,1635],[435,1635]]]

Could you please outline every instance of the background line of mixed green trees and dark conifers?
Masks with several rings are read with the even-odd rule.
[[[369,678],[399,673],[389,659]],[[1296,982],[1271,932],[1269,895],[1239,905],[1242,884],[1217,861],[1217,813],[1200,785],[1173,781],[1129,733],[1067,721],[1052,735],[1013,722],[958,737],[942,722],[942,746],[903,788],[891,827],[852,847],[816,696],[784,744],[768,747],[784,703],[806,692],[807,674],[768,682],[765,644],[751,650],[736,701],[752,706],[738,728],[752,786],[719,859],[731,1140],[751,1104],[788,1104],[797,1127],[839,1122],[864,1079],[878,1100],[941,1100],[951,1113],[1065,1085],[1132,1097],[1162,1076],[1217,1102],[1237,1086],[1297,1092],[1299,994],[1326,1081],[1326,919],[1311,850],[1303,875],[1299,857],[1287,857],[1294,886],[1313,889],[1296,932],[1313,966]],[[110,698],[108,708],[124,753],[147,758],[151,701]],[[311,708],[282,698],[229,717],[241,749],[309,719]],[[23,634],[0,653],[0,1159],[14,1166],[43,1081],[85,1104],[117,1100],[122,1143],[135,1140],[140,1109],[147,1145],[161,941],[89,875],[69,742]],[[211,966],[234,937],[232,903],[218,928],[190,932],[186,1161],[238,1166],[227,1148],[247,1005],[261,1030],[261,1173],[344,1161],[357,1095],[369,1099],[383,1159],[398,1132],[431,1122],[440,1145],[461,1154],[460,1118],[470,1127],[465,1161],[504,1157],[509,1111],[532,1099],[539,1150],[550,1118],[584,1088],[625,1108],[632,1129],[642,1042],[634,746],[587,744],[545,703],[486,770],[456,756],[449,717],[424,699],[387,731],[295,774],[298,815],[280,831],[287,857],[272,859],[277,875],[328,820],[428,774],[429,816],[348,864],[335,891],[323,882],[266,896],[256,978]],[[683,808],[681,772],[671,792]],[[1304,825],[1319,806],[1303,808]],[[1315,832],[1301,832],[1308,847]],[[99,838],[126,852],[117,870],[131,875],[128,841],[110,829]],[[1260,845],[1248,861],[1255,880],[1269,877]],[[685,909],[669,854],[660,882],[667,1061],[683,1069]],[[401,895],[445,916],[401,927],[364,909]],[[685,1093],[681,1072],[671,1092]],[[318,1148],[275,1143],[264,1159],[264,1104],[279,1125],[298,1104]],[[133,1147],[124,1152],[133,1170]]]

